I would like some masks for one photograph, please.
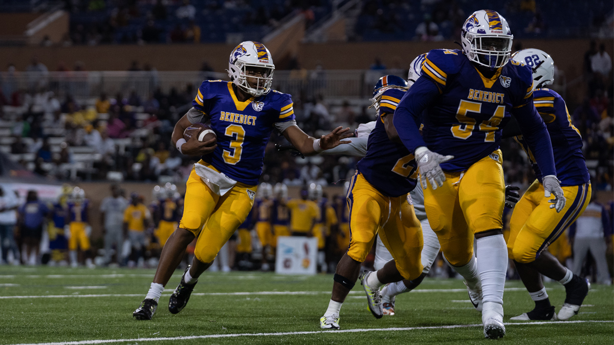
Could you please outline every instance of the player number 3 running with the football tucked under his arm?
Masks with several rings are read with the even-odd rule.
[[[194,260],[169,301],[180,312],[203,273],[223,244],[244,222],[254,204],[263,157],[273,130],[303,154],[343,144],[348,128],[336,128],[320,139],[309,137],[294,120],[290,95],[271,90],[275,66],[271,53],[259,42],[246,41],[230,53],[230,82],[206,80],[198,88],[192,109],[176,123],[173,143],[184,155],[201,156],[188,178],[179,227],[166,242],[149,292],[133,316],[150,320],[164,285],[181,262],[185,248],[196,240]],[[216,139],[184,139],[193,123],[207,123]]]

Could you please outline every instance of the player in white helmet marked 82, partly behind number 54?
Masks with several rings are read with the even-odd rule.
[[[561,180],[567,203],[560,213],[551,212],[548,198],[543,196],[544,174],[535,162],[526,140],[518,135],[521,134],[517,130],[518,126],[510,123],[503,130],[503,136],[518,135],[515,139],[526,151],[537,176],[516,204],[510,219],[510,238],[507,242],[508,256],[514,260],[524,286],[535,301],[535,309],[511,319],[567,320],[578,314],[588,294],[589,285],[544,249],[580,217],[591,200],[590,176],[582,154],[582,138],[572,125],[565,101],[558,93],[544,88],[554,80],[554,61],[550,55],[539,49],[524,49],[512,55],[512,59],[526,63],[533,70],[536,87],[533,102],[548,128],[556,176]],[[567,296],[558,315],[548,300],[540,273],[565,286]]]

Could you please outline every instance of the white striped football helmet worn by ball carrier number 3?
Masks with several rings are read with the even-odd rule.
[[[247,82],[247,70],[250,68],[262,69],[260,77],[249,77],[257,79],[256,87],[251,87]],[[245,41],[237,45],[235,50],[230,53],[228,61],[228,77],[235,85],[254,97],[266,95],[271,91],[273,82],[273,71],[275,65],[271,53],[264,44],[255,41]]]

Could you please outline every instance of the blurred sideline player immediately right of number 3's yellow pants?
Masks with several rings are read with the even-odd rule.
[[[271,227],[271,209],[273,207],[273,186],[266,182],[258,187],[259,197],[256,198],[254,207],[254,220],[256,233],[260,239],[262,246],[262,266],[263,271],[268,271],[270,266],[269,261],[273,260],[271,246],[273,243],[273,228]]]

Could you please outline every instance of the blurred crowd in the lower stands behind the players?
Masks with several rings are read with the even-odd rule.
[[[580,104],[568,103],[573,124],[585,142],[584,152],[593,177],[593,188],[612,190],[614,156],[613,78],[612,59],[603,44],[591,42],[583,61],[584,74],[578,88],[586,90]],[[146,69],[152,70],[150,66]],[[371,69],[385,69],[379,61]],[[140,68],[137,61],[131,71]],[[203,71],[210,71],[206,63]],[[0,149],[22,160],[30,170],[59,179],[106,179],[116,172],[120,180],[171,181],[187,179],[196,157],[184,157],[170,144],[174,123],[191,107],[198,85],[186,83],[183,88],[168,91],[153,88],[147,97],[130,89],[125,93],[106,95],[96,99],[76,99],[71,93],[55,95],[50,85],[39,85],[37,76],[47,73],[44,64],[33,59],[27,71],[34,75],[30,88],[17,88],[10,80],[10,71],[0,80],[0,104],[10,112],[2,116],[0,131],[4,128],[13,139],[2,139]],[[321,69],[316,74],[325,75]],[[379,71],[377,71],[379,72]],[[384,72],[384,71],[382,71]],[[399,70],[399,75],[406,72]],[[207,72],[203,72],[207,73]],[[7,77],[8,76],[8,77]],[[556,78],[555,78],[556,79]],[[317,78],[314,80],[318,80]],[[84,82],[85,83],[85,82]],[[302,89],[284,90],[293,95],[295,115],[300,127],[312,136],[328,133],[337,125],[355,130],[360,123],[373,120],[368,99],[329,99],[322,94]],[[565,90],[558,90],[560,93]],[[6,133],[6,132],[5,132]],[[265,169],[262,180],[284,182],[287,185],[336,184],[354,173],[359,158],[339,156],[293,157],[290,152],[274,152],[274,144],[283,142],[274,134],[266,148]],[[89,150],[87,149],[89,148]],[[523,150],[513,141],[503,141],[506,180],[527,187],[534,179]],[[34,160],[19,156],[34,154]],[[78,169],[58,169],[75,161],[80,153],[88,157],[93,166]],[[87,159],[86,159],[87,160]],[[34,164],[32,164],[34,163]],[[120,174],[117,177],[117,174]]]

